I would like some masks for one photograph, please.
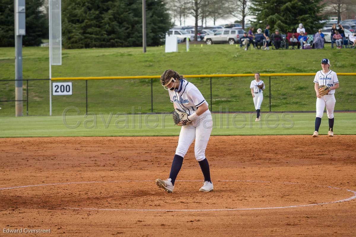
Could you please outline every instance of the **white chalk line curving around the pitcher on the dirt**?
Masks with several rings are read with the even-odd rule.
[[[153,182],[154,180],[116,180],[116,181],[83,181],[83,182],[68,182],[68,183],[53,183],[53,184],[35,184],[35,185],[23,185],[15,186],[8,188],[0,188],[0,190],[6,189],[16,189],[16,188],[28,188],[28,187],[37,187],[37,186],[48,186],[48,185],[65,185],[65,184],[88,184],[88,183],[124,183],[124,182]],[[176,180],[183,182],[202,182],[203,180]],[[271,181],[262,181],[262,180],[216,180],[215,182],[258,182],[258,183],[272,183]],[[293,183],[293,182],[275,182],[283,184],[298,184],[298,185],[307,185],[307,186],[317,186],[323,188],[332,188],[339,189],[333,186],[324,186],[324,185],[309,185],[303,183]],[[278,206],[278,207],[253,207],[253,208],[231,208],[231,209],[109,209],[109,208],[85,208],[85,207],[63,207],[64,209],[69,210],[94,210],[94,211],[183,211],[183,212],[199,212],[199,211],[246,211],[246,210],[268,210],[268,209],[284,209],[284,208],[293,208],[293,207],[307,207],[307,206],[317,206],[317,205],[327,205],[339,202],[346,202],[356,199],[356,191],[345,189],[348,192],[353,193],[354,195],[342,200],[332,201],[332,202],[320,202],[314,204],[305,204],[305,205],[293,205],[293,206]]]

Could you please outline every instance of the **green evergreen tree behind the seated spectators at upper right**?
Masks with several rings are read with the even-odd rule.
[[[251,0],[251,14],[256,17],[254,25],[265,28],[267,24],[272,30],[296,32],[299,23],[309,33],[315,33],[323,25],[321,11],[322,0]]]

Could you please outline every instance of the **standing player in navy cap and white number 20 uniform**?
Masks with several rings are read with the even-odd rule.
[[[335,108],[335,89],[339,88],[339,80],[337,79],[337,75],[334,71],[329,70],[330,68],[330,60],[324,58],[321,60],[321,68],[315,74],[314,78],[314,89],[316,92],[316,118],[315,118],[315,131],[313,133],[313,137],[319,136],[319,127],[321,123],[321,118],[323,117],[324,109],[326,106],[326,113],[329,118],[329,131],[328,136],[334,136],[334,108]],[[328,94],[324,96],[320,96],[319,94],[319,85],[326,85],[329,87]]]

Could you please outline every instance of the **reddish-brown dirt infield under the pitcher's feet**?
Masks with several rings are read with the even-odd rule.
[[[214,191],[168,178],[178,137],[0,138],[0,236],[356,236],[356,136],[213,136],[206,157]],[[167,144],[166,146],[164,144]],[[192,145],[178,180],[201,180]],[[219,181],[241,180],[241,181]],[[261,180],[265,182],[247,182]],[[288,183],[283,183],[288,182]],[[292,184],[293,183],[293,184]],[[321,185],[321,186],[320,186]],[[328,188],[326,186],[340,189]]]

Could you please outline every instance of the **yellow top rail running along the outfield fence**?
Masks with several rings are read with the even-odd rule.
[[[184,78],[202,78],[202,77],[253,77],[254,73],[248,74],[199,74],[199,75],[183,75]],[[315,73],[261,73],[261,77],[276,77],[276,76],[314,76]],[[356,76],[356,73],[337,73],[340,76]],[[152,76],[124,76],[124,77],[53,77],[52,81],[64,80],[108,80],[108,79],[151,79],[161,78],[160,75]]]

